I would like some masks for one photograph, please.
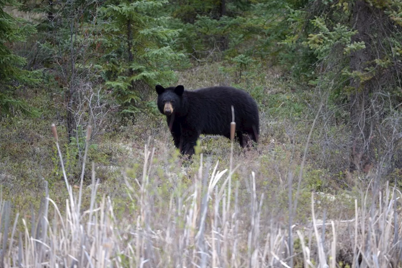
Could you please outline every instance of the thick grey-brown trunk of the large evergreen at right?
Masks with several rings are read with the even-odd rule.
[[[370,21],[375,18],[372,10],[364,0],[357,0],[353,7],[353,28],[358,31],[352,37],[353,42],[364,41],[365,48],[351,53],[350,68],[352,72],[366,71],[369,62],[374,60],[371,52],[372,39],[370,37]],[[351,169],[362,171],[371,159],[373,149],[370,146],[370,139],[373,131],[373,120],[371,120],[371,109],[369,94],[373,90],[372,80],[360,81],[351,78],[351,86],[354,87],[350,96],[351,112],[351,133],[352,133],[352,165]]]

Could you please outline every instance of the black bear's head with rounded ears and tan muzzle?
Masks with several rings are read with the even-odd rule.
[[[166,89],[157,85],[155,88],[156,93],[158,93],[158,109],[162,114],[169,116],[180,109],[184,92],[182,85],[167,87]]]

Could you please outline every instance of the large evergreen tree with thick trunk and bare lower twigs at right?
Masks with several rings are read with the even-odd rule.
[[[314,54],[308,79],[328,91],[335,114],[350,128],[352,169],[390,163],[400,146],[393,133],[401,131],[395,121],[402,116],[401,17],[395,0],[309,1],[285,13],[292,32],[282,43],[293,51],[303,47],[295,65]]]

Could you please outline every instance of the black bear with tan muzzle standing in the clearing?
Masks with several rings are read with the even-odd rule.
[[[258,142],[258,107],[246,92],[233,87],[206,87],[185,91],[182,85],[164,88],[156,86],[158,109],[166,115],[174,146],[183,155],[194,154],[200,134],[230,138],[232,105],[236,136],[244,148],[248,140]]]

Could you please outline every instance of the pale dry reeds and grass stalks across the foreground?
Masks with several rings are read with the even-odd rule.
[[[133,208],[123,219],[115,216],[112,198],[96,200],[93,163],[88,208],[81,203],[83,175],[76,192],[65,173],[66,208],[59,209],[46,188],[31,228],[19,214],[11,221],[10,202],[1,199],[2,267],[400,267],[401,193],[388,183],[382,189],[370,183],[355,200],[354,218],[343,221],[325,213],[318,219],[312,193],[311,221],[289,229],[285,216],[267,213],[278,205],[258,189],[254,171],[234,179],[244,167],[233,159],[233,141],[228,168],[201,154],[192,181],[177,180],[167,192],[160,191],[155,151],[148,140],[140,175],[123,173]]]

